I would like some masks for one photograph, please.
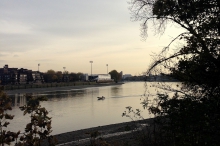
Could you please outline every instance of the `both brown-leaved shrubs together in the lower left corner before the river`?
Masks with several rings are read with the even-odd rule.
[[[10,145],[13,142],[17,146],[39,146],[43,140],[47,139],[48,145],[55,145],[57,141],[50,135],[52,132],[51,118],[47,116],[47,110],[39,105],[39,102],[45,98],[34,98],[30,95],[27,95],[27,98],[27,105],[20,107],[24,111],[24,115],[31,114],[31,122],[26,125],[25,132],[6,131],[4,128],[10,124],[7,120],[12,120],[14,117],[7,113],[7,110],[12,110],[12,101],[3,92],[3,87],[0,88],[0,144]]]

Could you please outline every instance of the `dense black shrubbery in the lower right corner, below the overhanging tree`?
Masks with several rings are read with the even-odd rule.
[[[149,111],[162,117],[156,124],[162,126],[161,141],[169,145],[219,145],[220,107],[215,100],[197,100],[195,97],[158,94],[158,105]]]

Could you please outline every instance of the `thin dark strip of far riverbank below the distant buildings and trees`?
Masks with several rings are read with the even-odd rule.
[[[15,90],[5,90],[8,95],[14,94],[25,94],[25,93],[43,93],[43,92],[53,92],[53,91],[67,91],[72,89],[83,89],[89,87],[100,87],[100,86],[114,86],[122,85],[124,83],[96,83],[96,84],[80,84],[80,85],[71,85],[71,86],[56,86],[49,88],[28,88],[28,89],[15,89]]]

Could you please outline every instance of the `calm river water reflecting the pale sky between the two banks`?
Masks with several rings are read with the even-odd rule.
[[[122,117],[127,106],[142,110],[144,118],[153,117],[140,104],[144,93],[144,82],[126,82],[114,86],[37,93],[34,96],[45,95],[48,98],[48,101],[40,104],[49,111],[49,117],[52,117],[52,134],[60,134],[131,121],[130,118]],[[14,102],[10,114],[15,117],[10,121],[7,130],[24,131],[26,124],[30,121],[30,115],[23,116],[19,106],[26,104],[26,99],[22,94],[10,96]],[[105,100],[97,100],[99,96],[105,96]]]

